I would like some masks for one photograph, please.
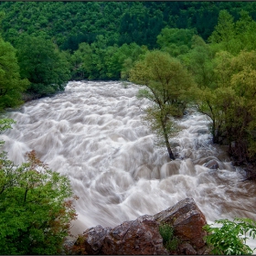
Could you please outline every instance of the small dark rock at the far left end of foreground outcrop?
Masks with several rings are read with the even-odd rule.
[[[111,228],[102,228],[101,225],[86,229],[83,235],[75,242],[72,251],[75,254],[100,254],[103,240],[111,230]]]

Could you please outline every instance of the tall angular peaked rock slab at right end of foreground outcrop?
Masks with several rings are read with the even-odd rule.
[[[187,241],[195,250],[205,245],[206,232],[202,228],[207,221],[192,197],[155,214],[155,219],[173,225],[176,237],[182,242]]]

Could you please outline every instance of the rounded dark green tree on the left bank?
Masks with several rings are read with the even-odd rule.
[[[17,44],[21,76],[31,84],[28,92],[44,96],[64,90],[69,80],[69,66],[58,48],[44,37],[21,37]]]

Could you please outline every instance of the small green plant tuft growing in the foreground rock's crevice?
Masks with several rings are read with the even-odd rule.
[[[168,251],[176,251],[179,240],[174,235],[174,228],[168,223],[159,226],[159,233],[163,238],[163,243]]]

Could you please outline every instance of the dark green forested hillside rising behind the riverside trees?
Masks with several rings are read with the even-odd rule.
[[[196,28],[206,40],[223,9],[235,20],[241,9],[256,18],[253,2],[0,2],[7,41],[27,33],[71,50],[81,42],[91,44],[97,35],[104,36],[108,46],[134,42],[157,48],[156,36],[166,26]]]

